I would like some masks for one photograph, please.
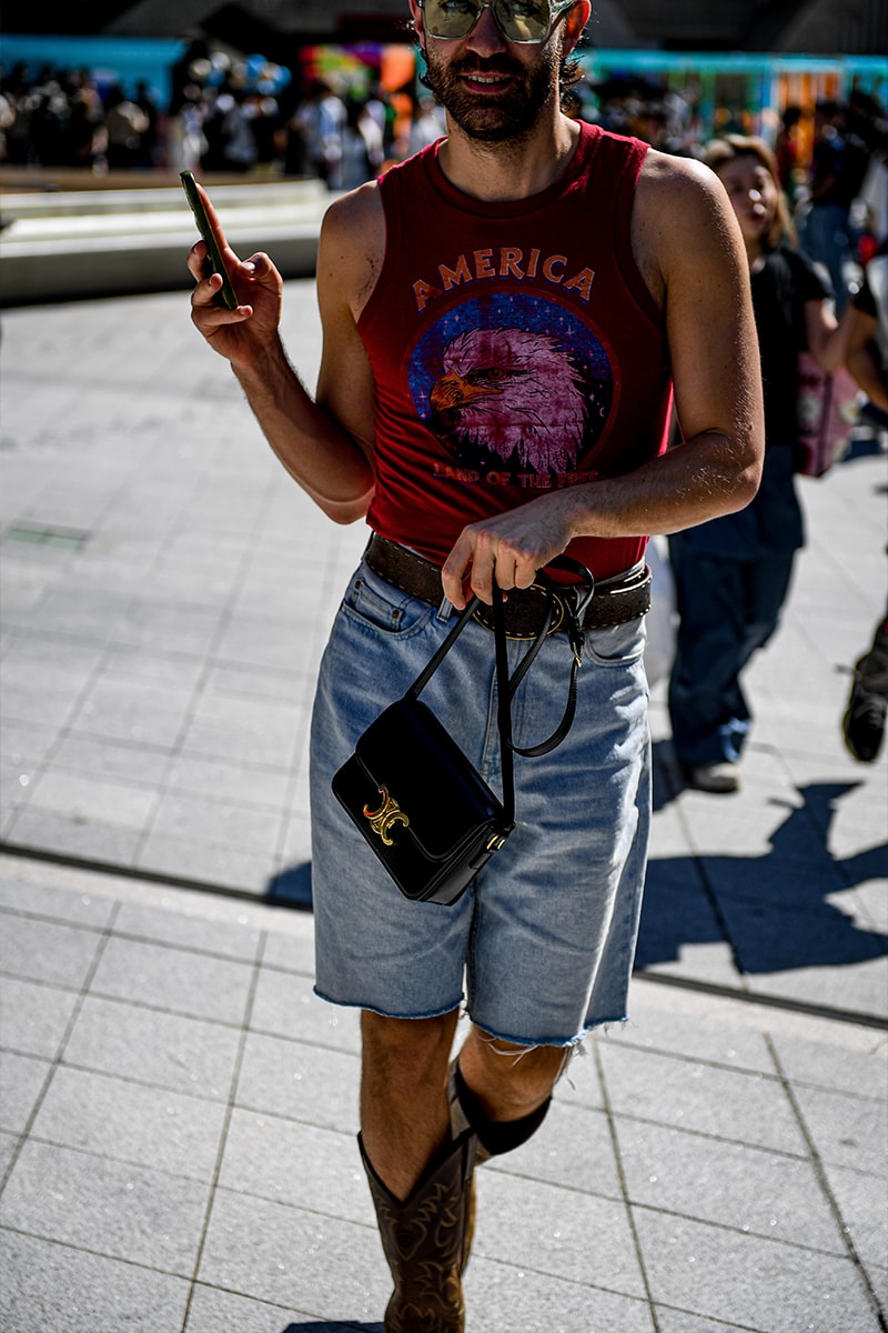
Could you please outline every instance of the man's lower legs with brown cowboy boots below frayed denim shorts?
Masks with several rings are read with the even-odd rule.
[[[479,1128],[485,1156],[530,1138],[566,1058],[558,1046],[514,1046],[471,1028],[459,1054],[469,1114],[454,1132],[447,1073],[457,1020],[455,1010],[361,1017],[361,1156],[394,1278],[386,1333],[463,1333]]]

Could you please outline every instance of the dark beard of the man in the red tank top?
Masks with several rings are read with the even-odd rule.
[[[435,56],[430,59],[430,52]],[[487,144],[503,143],[527,133],[539,113],[558,93],[558,44],[546,44],[543,59],[533,69],[513,64],[507,56],[466,56],[463,60],[435,64],[434,40],[426,51],[426,75],[422,81],[434,92],[451,120],[470,139]],[[477,96],[463,84],[465,75],[510,75],[501,93]]]

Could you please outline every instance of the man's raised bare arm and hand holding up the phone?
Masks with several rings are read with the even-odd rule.
[[[366,513],[374,484],[371,385],[351,316],[361,255],[353,249],[347,264],[329,260],[330,251],[338,255],[343,248],[353,212],[346,200],[334,205],[321,235],[318,293],[325,343],[317,400],[306,392],[284,351],[278,332],[282,283],[269,257],[254,255],[241,263],[210,213],[238,300],[244,301],[236,311],[226,311],[214,304],[221,279],[204,277],[202,241],[189,256],[197,279],[192,296],[194,325],[230,361],[286,471],[337,523],[353,523]],[[325,367],[332,364],[337,367],[338,389],[329,372],[325,376]]]

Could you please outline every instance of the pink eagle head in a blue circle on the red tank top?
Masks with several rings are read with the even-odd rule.
[[[610,357],[588,325],[523,292],[442,312],[414,345],[409,380],[419,420],[457,468],[513,481],[575,473],[614,400]]]

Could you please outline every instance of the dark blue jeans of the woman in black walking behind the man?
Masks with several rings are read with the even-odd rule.
[[[740,673],[777,627],[795,556],[766,549],[743,559],[691,541],[670,537],[680,623],[668,704],[686,769],[739,760],[752,720]]]

